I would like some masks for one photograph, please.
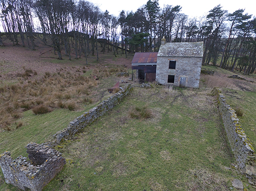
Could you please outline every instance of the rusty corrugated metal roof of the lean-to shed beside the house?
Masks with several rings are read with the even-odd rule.
[[[147,52],[147,53],[135,53],[131,63],[156,63],[157,53]]]

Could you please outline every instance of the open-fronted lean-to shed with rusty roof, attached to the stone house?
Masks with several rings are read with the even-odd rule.
[[[135,53],[131,62],[131,68],[136,70],[136,78],[142,82],[154,82],[156,61],[156,52]]]

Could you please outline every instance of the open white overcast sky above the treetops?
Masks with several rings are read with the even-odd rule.
[[[125,12],[135,12],[138,8],[145,5],[147,1],[148,0],[94,0],[90,2],[100,6],[100,9],[104,12],[108,10],[111,15],[119,16],[122,10]],[[238,9],[245,9],[244,13],[256,16],[256,0],[159,0],[161,8],[163,8],[164,5],[180,5],[182,7],[181,13],[188,15],[190,18],[207,15],[208,11],[219,4],[221,4],[223,9],[228,10],[229,13],[233,13]]]

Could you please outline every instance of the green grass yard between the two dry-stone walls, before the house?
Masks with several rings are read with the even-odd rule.
[[[147,104],[153,116],[129,117]],[[228,190],[238,176],[209,92],[135,88],[59,150],[64,170],[48,190]]]

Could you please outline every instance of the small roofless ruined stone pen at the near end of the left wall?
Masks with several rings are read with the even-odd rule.
[[[23,156],[12,160],[8,151],[0,155],[6,183],[23,190],[41,191],[63,169],[66,160],[62,153],[45,144],[32,142],[26,148],[31,161]]]

